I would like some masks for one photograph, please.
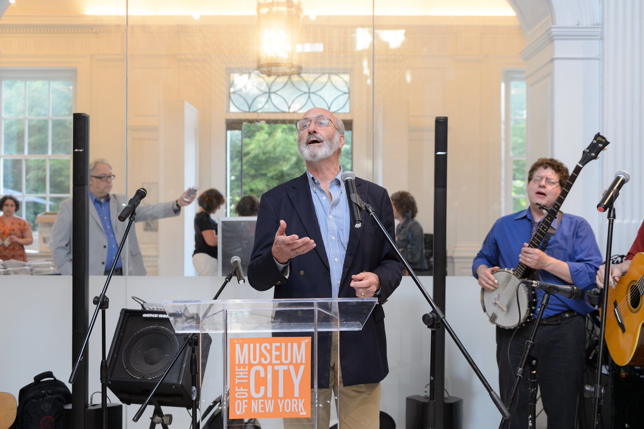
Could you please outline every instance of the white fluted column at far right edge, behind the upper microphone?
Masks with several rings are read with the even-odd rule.
[[[603,117],[604,135],[611,142],[602,162],[601,191],[618,170],[630,173],[630,182],[615,205],[612,254],[626,254],[644,218],[644,125],[642,121],[644,5],[640,0],[604,1]],[[607,221],[601,216],[600,243],[605,250]]]

